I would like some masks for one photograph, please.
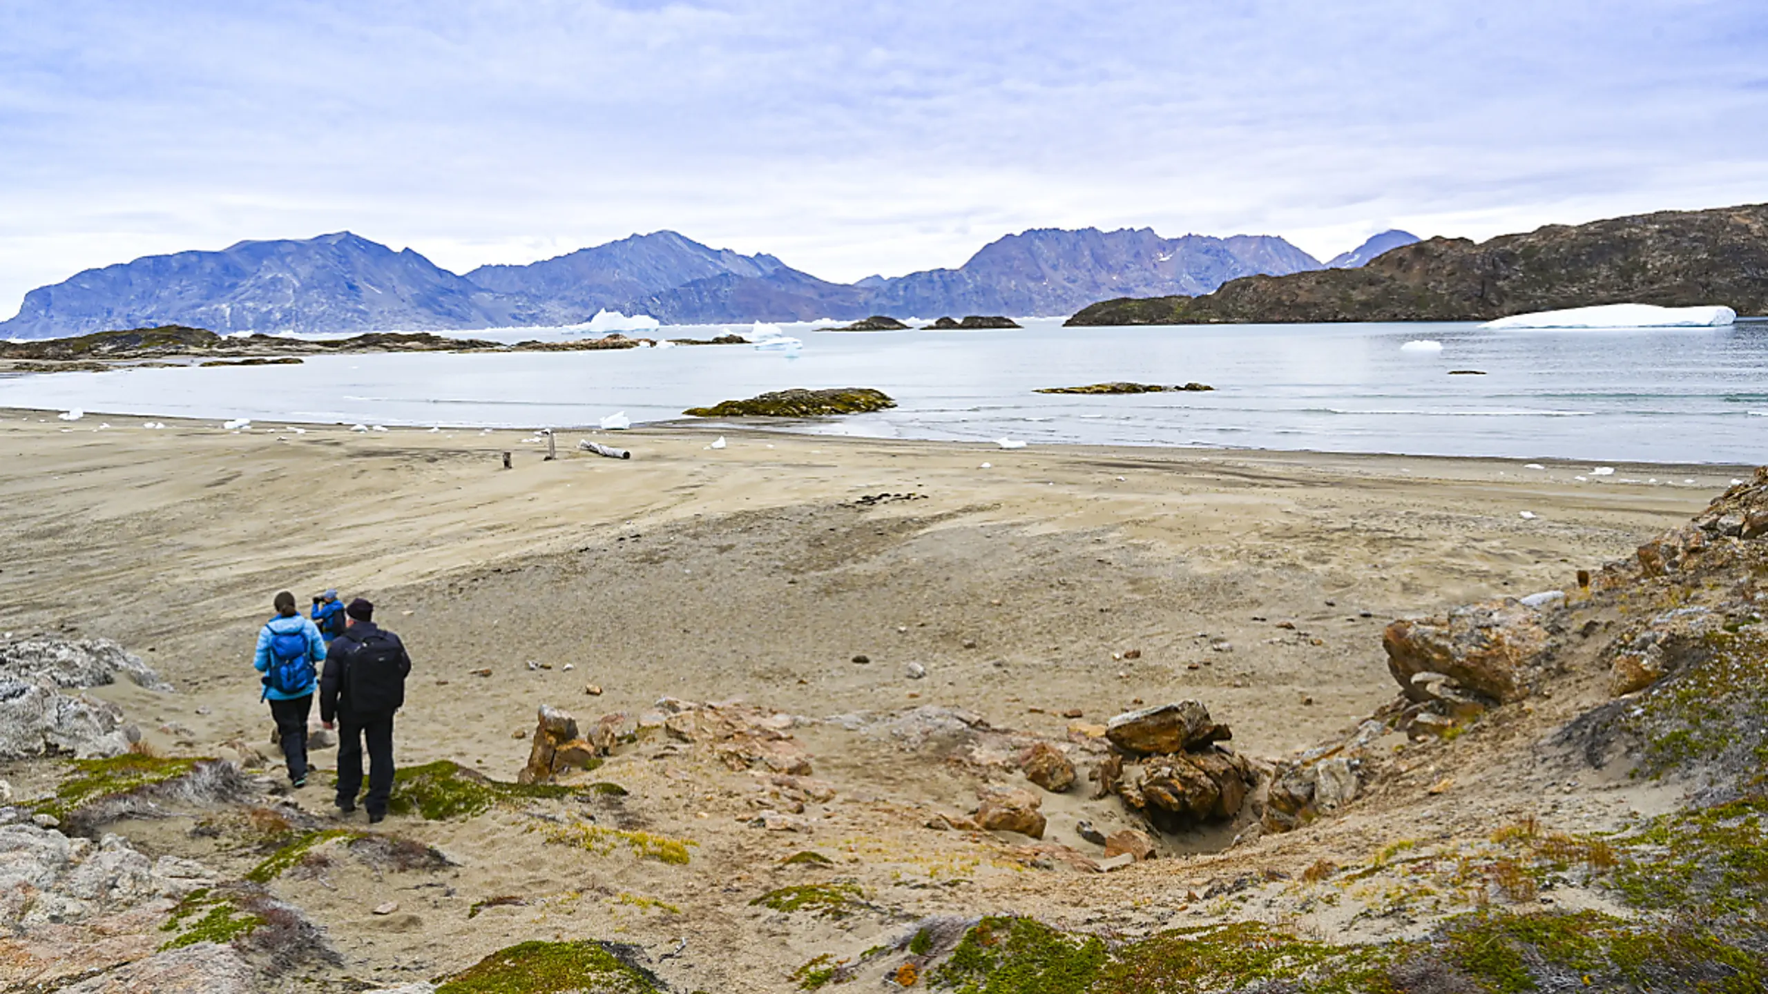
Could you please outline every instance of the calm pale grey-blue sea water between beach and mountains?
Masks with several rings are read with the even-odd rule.
[[[707,336],[725,327],[665,329]],[[324,356],[302,366],[0,377],[4,407],[446,426],[635,423],[785,387],[879,387],[895,410],[808,430],[1029,444],[1768,462],[1768,324],[1482,331],[1473,324],[826,333],[750,347]],[[479,334],[479,333],[474,333]],[[532,338],[532,329],[486,334]],[[557,338],[557,333],[553,334]],[[1411,352],[1414,340],[1441,352]],[[1483,375],[1450,375],[1480,370]],[[1050,396],[1142,380],[1213,393]],[[133,423],[120,423],[126,426]]]

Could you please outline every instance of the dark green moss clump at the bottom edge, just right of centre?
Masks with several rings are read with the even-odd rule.
[[[958,994],[1080,994],[1105,966],[1105,943],[1031,918],[983,918],[934,971]]]

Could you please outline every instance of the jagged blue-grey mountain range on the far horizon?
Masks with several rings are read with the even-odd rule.
[[[1383,241],[1386,239],[1386,241]],[[1360,265],[1384,232],[1333,260]],[[713,249],[675,232],[633,235],[529,265],[449,272],[350,232],[246,241],[83,271],[25,295],[0,338],[191,325],[216,333],[460,331],[569,325],[601,310],[665,324],[852,320],[868,315],[1068,315],[1107,297],[1197,295],[1321,262],[1280,237],[1162,239],[1149,228],[1038,228],[983,246],[958,269],[831,283],[771,255]]]

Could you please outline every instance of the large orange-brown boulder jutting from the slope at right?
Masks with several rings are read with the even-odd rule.
[[[1388,672],[1402,688],[1434,672],[1499,702],[1529,695],[1551,642],[1540,612],[1515,598],[1395,621],[1381,633]]]

